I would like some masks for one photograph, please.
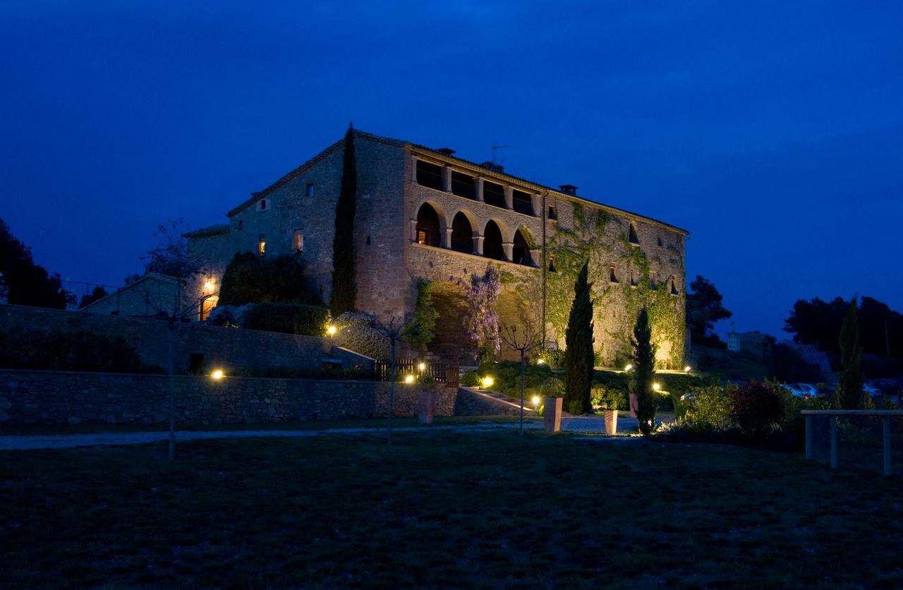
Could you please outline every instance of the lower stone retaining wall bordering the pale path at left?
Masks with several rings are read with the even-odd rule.
[[[169,378],[67,371],[0,370],[2,425],[158,424],[169,420]],[[384,417],[389,384],[313,379],[174,378],[181,425]],[[436,389],[436,415],[455,413],[457,392],[396,383],[395,415],[415,416],[416,392]],[[492,412],[489,412],[492,413]]]

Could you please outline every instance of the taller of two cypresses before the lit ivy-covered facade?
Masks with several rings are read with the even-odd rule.
[[[564,333],[564,407],[572,414],[584,414],[592,409],[592,283],[589,282],[587,260],[574,283],[573,304]]]

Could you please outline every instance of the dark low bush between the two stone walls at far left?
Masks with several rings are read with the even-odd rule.
[[[107,373],[163,372],[159,367],[144,364],[121,336],[58,329],[43,332],[13,328],[0,333],[0,367]]]

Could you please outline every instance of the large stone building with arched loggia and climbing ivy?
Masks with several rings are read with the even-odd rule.
[[[186,235],[206,261],[196,295],[215,304],[216,286],[237,252],[297,253],[312,287],[329,302],[334,211],[343,142],[228,211],[228,223]],[[684,238],[687,232],[577,195],[474,164],[451,149],[355,133],[358,171],[353,220],[357,306],[379,316],[410,312],[416,282],[434,284],[440,312],[432,351],[469,347],[463,328],[470,277],[498,267],[498,312],[543,326],[549,346],[563,346],[579,267],[590,260],[596,295],[595,346],[604,363],[626,355],[636,313],[647,304],[662,366],[684,356]],[[351,222],[351,220],[348,220]]]

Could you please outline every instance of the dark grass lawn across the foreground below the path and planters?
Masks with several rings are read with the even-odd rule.
[[[0,586],[903,585],[903,481],[509,432],[0,454]]]

